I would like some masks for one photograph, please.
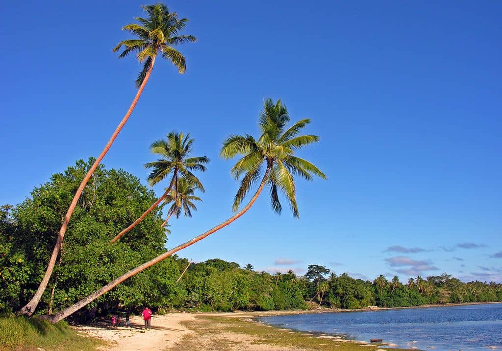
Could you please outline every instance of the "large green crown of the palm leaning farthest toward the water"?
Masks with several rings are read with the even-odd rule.
[[[296,150],[319,141],[316,135],[299,135],[310,123],[310,119],[299,120],[286,129],[289,120],[288,110],[281,100],[274,104],[272,99],[267,99],[260,114],[262,134],[258,140],[246,134],[231,135],[224,141],[222,157],[242,155],[230,170],[235,179],[243,176],[234,198],[234,211],[238,210],[249,189],[260,180],[264,167],[264,180],[270,186],[272,208],[279,214],[282,212],[279,200],[281,191],[289,202],[293,215],[299,217],[294,176],[308,181],[313,180],[313,175],[326,179],[326,175],[314,164],[294,155]]]

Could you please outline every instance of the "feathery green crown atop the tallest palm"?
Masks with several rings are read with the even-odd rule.
[[[178,14],[169,12],[169,9],[161,3],[155,5],[142,6],[148,15],[147,18],[135,17],[140,24],[129,24],[122,28],[139,39],[123,40],[113,48],[117,52],[121,47],[123,51],[118,56],[123,58],[130,53],[137,53],[138,60],[143,62],[143,70],[138,75],[136,87],[139,88],[147,72],[152,68],[155,57],[162,53],[162,57],[172,62],[180,73],[186,70],[186,62],[183,55],[173,45],[180,45],[187,42],[195,42],[194,36],[178,35],[188,22],[188,19],[178,19]]]

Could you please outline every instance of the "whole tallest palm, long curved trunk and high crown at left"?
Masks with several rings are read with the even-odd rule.
[[[184,73],[186,70],[185,58],[179,51],[174,49],[173,46],[196,41],[195,37],[191,35],[179,35],[179,32],[181,32],[186,27],[188,19],[183,18],[179,20],[177,13],[170,13],[168,8],[161,3],[158,3],[156,5],[142,6],[142,8],[146,12],[147,18],[137,17],[136,20],[138,20],[140,24],[129,24],[122,28],[122,30],[128,31],[138,36],[139,39],[121,41],[116,47],[113,48],[113,51],[116,52],[120,50],[121,47],[124,47],[124,50],[118,56],[119,58],[126,57],[130,53],[137,53],[138,60],[141,63],[144,63],[143,70],[140,72],[138,79],[136,80],[136,87],[138,88],[138,92],[136,93],[133,102],[129,106],[126,115],[122,118],[118,126],[115,128],[113,134],[111,134],[110,139],[94,161],[94,164],[92,164],[92,166],[85,174],[84,179],[75,192],[73,200],[70,203],[70,207],[68,208],[63,223],[61,224],[61,228],[56,240],[56,245],[54,246],[54,249],[52,251],[51,258],[49,259],[49,264],[47,265],[45,275],[40,282],[37,292],[35,293],[33,298],[21,309],[21,313],[23,314],[32,315],[33,312],[35,312],[35,309],[37,308],[38,303],[42,298],[42,294],[44,293],[47,284],[49,283],[49,279],[51,278],[59,250],[61,249],[61,245],[63,243],[66,228],[68,227],[68,223],[70,222],[71,215],[75,210],[78,199],[80,198],[80,195],[82,194],[87,182],[91,178],[92,173],[94,173],[97,166],[113,144],[113,141],[115,141],[118,133],[133,113],[133,110],[136,107],[141,94],[143,93],[143,89],[145,88],[145,85],[150,78],[150,74],[152,73],[155,58],[157,57],[157,55],[161,54],[163,58],[173,63],[178,68],[179,73]]]

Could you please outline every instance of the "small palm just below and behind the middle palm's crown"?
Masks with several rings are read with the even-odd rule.
[[[175,182],[173,189],[170,190],[169,194],[164,199],[164,204],[171,204],[171,207],[167,211],[167,218],[162,223],[161,227],[164,227],[171,218],[175,215],[176,218],[180,218],[181,209],[183,208],[184,216],[192,218],[192,211],[197,211],[197,207],[193,203],[194,201],[202,201],[201,198],[194,196],[195,190],[198,189],[197,185],[190,183],[183,177],[178,177],[178,181]],[[168,188],[166,188],[166,192]]]

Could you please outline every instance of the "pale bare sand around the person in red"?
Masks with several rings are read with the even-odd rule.
[[[110,323],[93,323],[75,327],[90,336],[98,337],[110,344],[103,351],[152,351],[172,348],[177,341],[193,331],[181,322],[193,321],[190,313],[168,313],[162,316],[153,315],[150,330],[143,330],[141,316],[131,316],[131,327],[112,327]]]

